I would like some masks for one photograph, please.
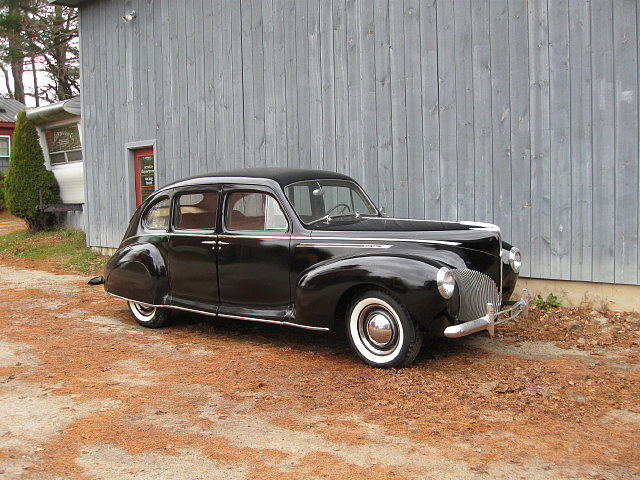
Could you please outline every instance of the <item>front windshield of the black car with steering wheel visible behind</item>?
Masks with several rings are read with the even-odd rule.
[[[377,216],[360,187],[347,180],[307,180],[287,185],[287,198],[306,225]]]

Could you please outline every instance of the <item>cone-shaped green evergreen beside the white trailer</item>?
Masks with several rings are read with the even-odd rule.
[[[44,155],[38,132],[24,112],[16,118],[9,172],[5,179],[5,200],[8,210],[23,218],[32,231],[53,227],[55,216],[38,206],[59,203],[59,187],[53,173],[44,166]]]

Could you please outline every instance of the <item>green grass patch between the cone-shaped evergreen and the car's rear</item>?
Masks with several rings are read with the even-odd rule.
[[[84,232],[65,228],[51,232],[28,230],[0,235],[0,254],[48,262],[79,273],[102,271],[107,257],[86,246]]]

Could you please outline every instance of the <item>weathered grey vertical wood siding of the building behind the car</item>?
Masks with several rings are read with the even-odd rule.
[[[524,275],[637,284],[639,28],[635,0],[88,2],[88,241],[117,246],[124,146],[154,140],[161,185],[337,170],[394,216],[500,225]]]

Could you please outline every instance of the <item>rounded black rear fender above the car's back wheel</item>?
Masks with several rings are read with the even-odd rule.
[[[105,267],[105,290],[141,303],[162,305],[168,293],[167,267],[154,245],[120,247]]]

